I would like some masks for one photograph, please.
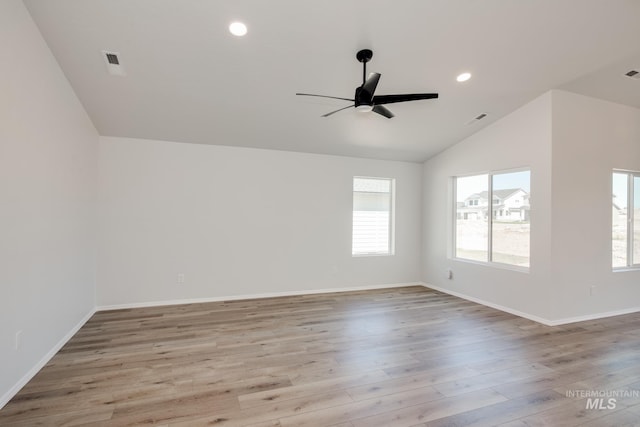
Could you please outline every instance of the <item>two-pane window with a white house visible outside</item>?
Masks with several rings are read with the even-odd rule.
[[[456,258],[529,267],[530,182],[529,170],[455,178]]]

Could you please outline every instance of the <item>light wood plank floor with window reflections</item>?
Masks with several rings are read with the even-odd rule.
[[[572,390],[640,390],[640,314],[546,327],[407,287],[96,313],[0,425],[640,426],[640,397]]]

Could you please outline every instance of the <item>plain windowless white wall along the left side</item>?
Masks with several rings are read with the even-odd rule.
[[[2,407],[95,306],[98,135],[20,0],[0,52]]]

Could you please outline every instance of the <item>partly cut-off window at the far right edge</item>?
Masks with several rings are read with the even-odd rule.
[[[612,176],[611,264],[640,267],[640,173]]]

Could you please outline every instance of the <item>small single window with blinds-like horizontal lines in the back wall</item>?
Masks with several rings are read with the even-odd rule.
[[[353,255],[393,255],[393,190],[389,178],[353,178]]]

